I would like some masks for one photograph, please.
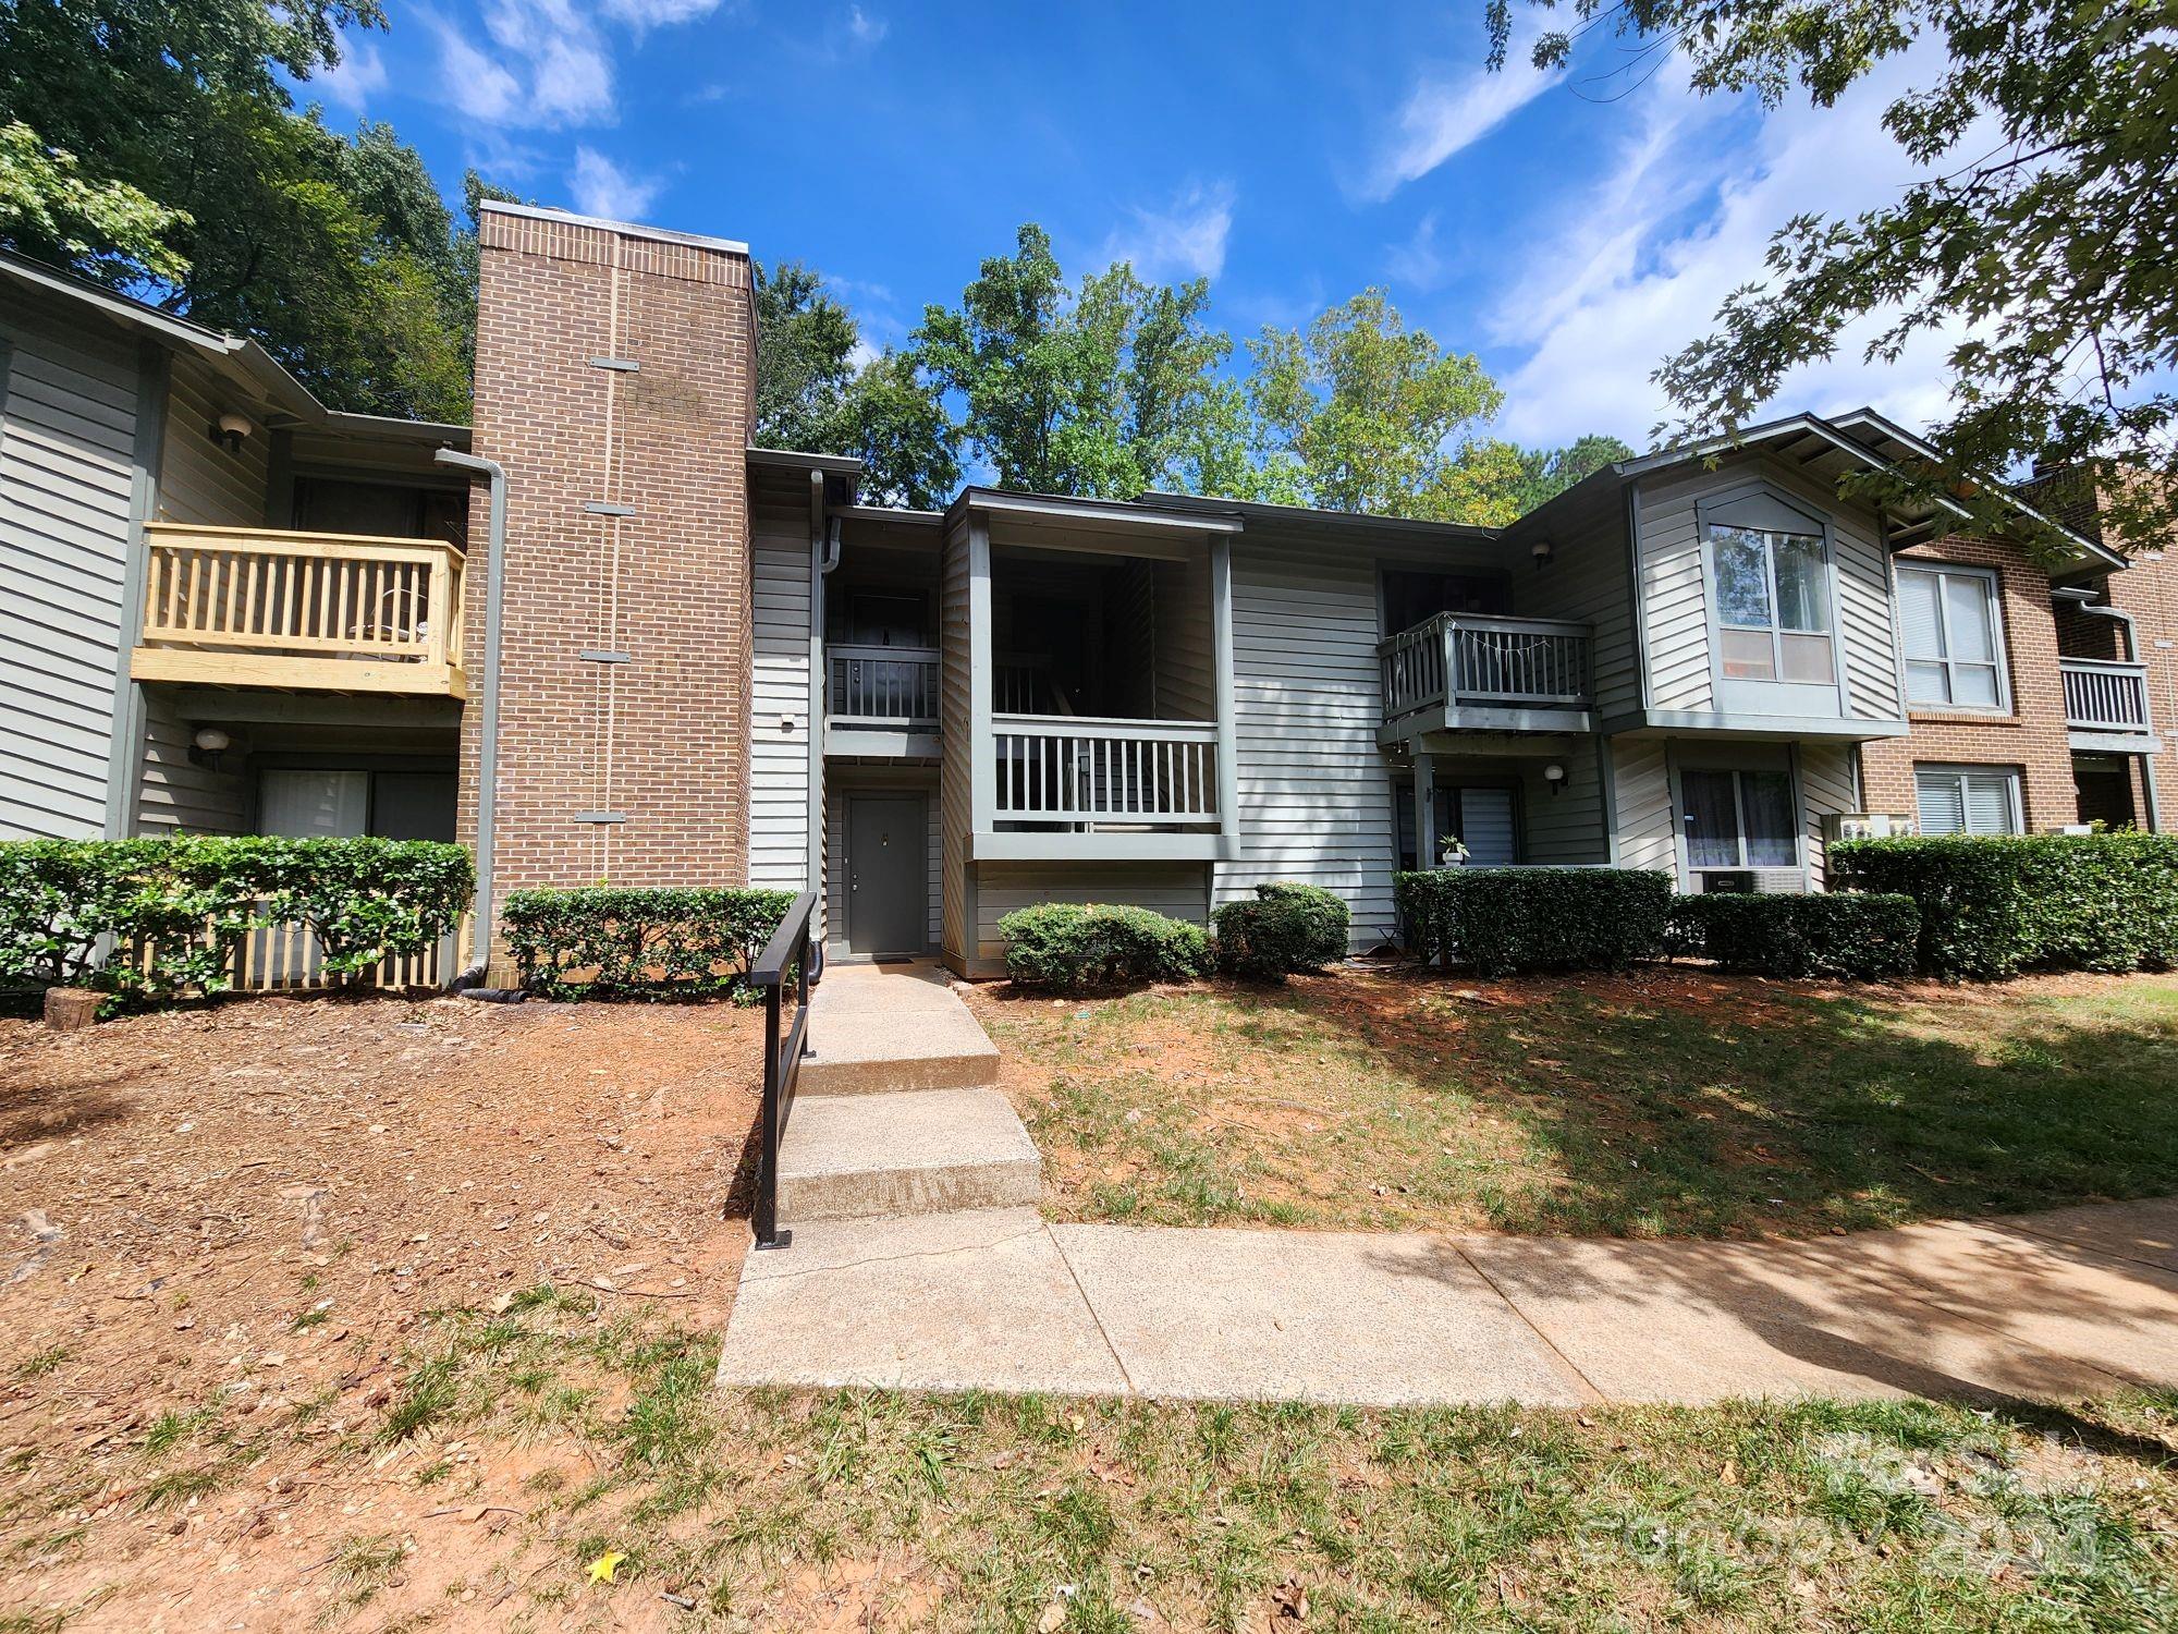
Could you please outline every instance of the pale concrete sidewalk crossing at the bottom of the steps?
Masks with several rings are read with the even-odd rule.
[[[2178,1383],[2178,1200],[1814,1242],[812,1220],[721,1383],[1296,1399],[2032,1397]]]

